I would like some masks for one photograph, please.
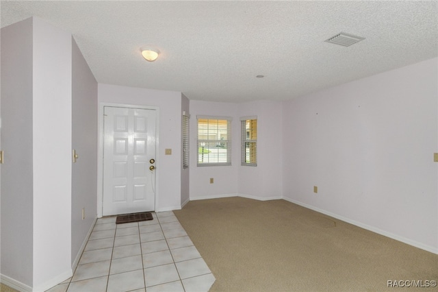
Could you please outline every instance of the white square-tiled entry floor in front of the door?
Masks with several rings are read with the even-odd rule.
[[[208,291],[216,280],[172,211],[98,219],[73,277],[48,292]]]

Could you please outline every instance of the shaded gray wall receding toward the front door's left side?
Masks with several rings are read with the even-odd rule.
[[[73,39],[72,148],[79,158],[72,165],[71,257],[79,260],[84,240],[96,218],[97,82]],[[82,220],[82,208],[85,219]]]

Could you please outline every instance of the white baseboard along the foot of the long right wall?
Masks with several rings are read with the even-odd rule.
[[[372,232],[375,232],[377,234],[381,234],[383,236],[387,236],[390,239],[395,239],[396,241],[401,241],[402,243],[406,243],[406,244],[412,245],[414,247],[418,247],[418,248],[420,248],[422,250],[426,250],[427,252],[432,252],[433,254],[438,254],[438,248],[436,248],[436,247],[433,247],[433,246],[430,246],[430,245],[425,245],[423,243],[419,243],[417,241],[413,241],[411,239],[407,239],[407,238],[405,238],[403,236],[399,236],[399,235],[393,234],[391,232],[386,232],[385,230],[381,230],[379,228],[375,228],[374,226],[369,226],[367,224],[364,224],[364,223],[361,223],[361,222],[358,222],[358,221],[355,221],[355,220],[352,220],[352,219],[348,219],[346,217],[339,216],[339,215],[334,214],[332,212],[328,212],[326,210],[322,210],[320,208],[316,208],[314,206],[311,206],[311,205],[308,205],[308,204],[296,201],[294,199],[289,199],[287,197],[283,197],[283,199],[285,199],[285,201],[287,201],[287,202],[291,202],[291,203],[300,205],[302,207],[314,210],[316,212],[320,212],[322,214],[329,215],[329,216],[331,216],[333,218],[342,220],[344,222],[350,223],[350,224],[358,226],[360,228],[363,228],[363,229],[366,229],[366,230],[370,230]]]

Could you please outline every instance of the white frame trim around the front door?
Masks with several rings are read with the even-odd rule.
[[[99,127],[99,146],[97,149],[97,217],[102,217],[103,212],[103,108],[105,106],[112,106],[115,108],[140,108],[142,110],[156,110],[157,111],[157,121],[155,121],[155,206],[154,210],[157,206],[157,194],[158,190],[158,171],[159,169],[159,151],[158,151],[158,143],[159,143],[159,108],[157,106],[142,106],[142,105],[134,105],[134,104],[112,104],[107,102],[99,103],[99,118],[98,118],[98,127]]]

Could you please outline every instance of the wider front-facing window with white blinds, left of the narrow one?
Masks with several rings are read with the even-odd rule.
[[[198,116],[198,167],[231,165],[231,118]]]

